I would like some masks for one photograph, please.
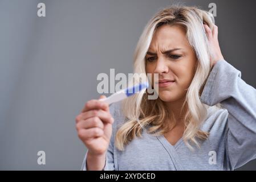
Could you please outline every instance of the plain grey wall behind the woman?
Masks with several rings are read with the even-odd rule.
[[[46,17],[37,4],[46,4]],[[178,1],[176,1],[178,2]],[[255,1],[179,1],[209,10],[225,59],[256,88]],[[99,73],[132,73],[148,20],[169,0],[0,1],[0,169],[79,170],[75,116],[98,98]],[[37,152],[46,152],[46,165]],[[250,162],[240,169],[256,169]]]

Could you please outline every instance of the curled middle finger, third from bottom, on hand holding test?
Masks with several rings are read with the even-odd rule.
[[[105,123],[113,123],[112,115],[108,111],[104,110],[89,110],[85,113],[81,113],[76,117],[76,123],[78,123],[80,120],[86,120],[92,117],[98,117]]]

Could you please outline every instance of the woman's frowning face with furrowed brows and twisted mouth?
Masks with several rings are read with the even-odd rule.
[[[196,54],[180,26],[164,25],[157,28],[146,55],[146,72],[159,73],[162,101],[184,100],[193,80],[197,63]]]

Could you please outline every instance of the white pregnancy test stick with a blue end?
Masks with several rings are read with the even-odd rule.
[[[141,90],[145,88],[148,88],[148,82],[143,82],[141,84],[137,84],[135,86],[119,90],[118,92],[113,93],[111,96],[107,98],[101,98],[100,101],[107,102],[109,105],[111,105],[114,102],[124,100],[125,98],[132,96],[135,93],[139,93]]]

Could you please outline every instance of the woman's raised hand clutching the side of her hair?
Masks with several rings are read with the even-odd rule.
[[[218,42],[218,27],[214,24],[213,31],[212,31],[210,30],[210,27],[208,25],[204,24],[204,28],[209,40],[210,49],[212,50],[212,57],[210,58],[210,61],[211,61],[211,66],[213,68],[213,66],[217,63],[217,61],[224,59],[221,53],[219,42]]]

